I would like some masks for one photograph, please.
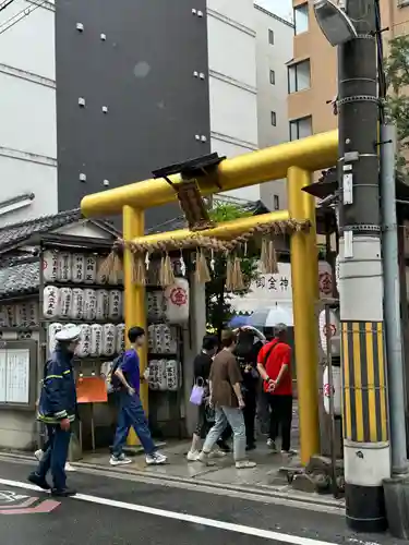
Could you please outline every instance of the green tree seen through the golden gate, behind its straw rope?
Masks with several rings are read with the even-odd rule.
[[[244,211],[233,204],[217,204],[209,213],[216,222],[230,221],[252,214]],[[249,292],[251,281],[257,278],[258,252],[254,244],[249,243],[246,257],[242,258],[241,269],[245,278],[246,289],[240,292],[244,295]],[[215,270],[212,271],[212,281],[206,283],[206,319],[218,332],[229,322],[233,312],[231,307],[231,294],[226,292],[226,256],[215,254]]]

